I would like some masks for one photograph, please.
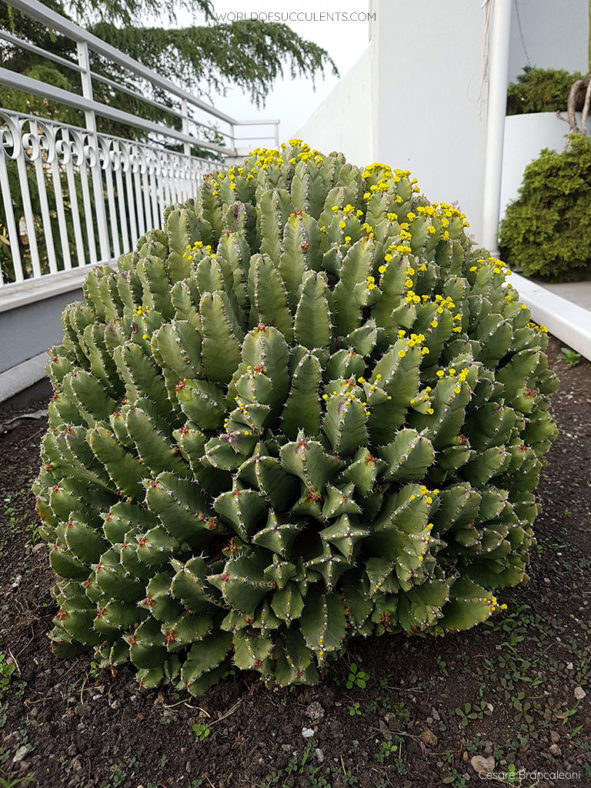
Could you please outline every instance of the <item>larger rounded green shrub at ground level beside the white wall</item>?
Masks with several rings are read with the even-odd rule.
[[[569,135],[523,174],[499,234],[503,259],[526,276],[576,280],[591,274],[591,139]]]

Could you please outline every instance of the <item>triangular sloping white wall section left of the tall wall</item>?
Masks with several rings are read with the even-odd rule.
[[[371,83],[368,48],[295,136],[322,153],[340,151],[359,167],[371,164],[375,158]]]

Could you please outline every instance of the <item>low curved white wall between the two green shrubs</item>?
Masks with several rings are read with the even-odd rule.
[[[554,112],[510,115],[505,119],[501,219],[507,205],[518,196],[527,165],[537,159],[543,148],[563,150],[568,130],[568,124],[557,118]],[[587,118],[587,133],[591,134],[591,118]]]

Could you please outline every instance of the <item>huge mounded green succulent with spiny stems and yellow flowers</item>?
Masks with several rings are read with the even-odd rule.
[[[527,579],[543,328],[408,172],[294,140],[206,176],[50,351],[57,654],[205,691],[478,624]]]

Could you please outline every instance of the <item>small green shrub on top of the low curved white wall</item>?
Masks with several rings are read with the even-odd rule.
[[[525,66],[517,82],[511,82],[507,88],[507,115],[566,112],[571,86],[582,76],[578,71],[571,74],[564,70]]]

